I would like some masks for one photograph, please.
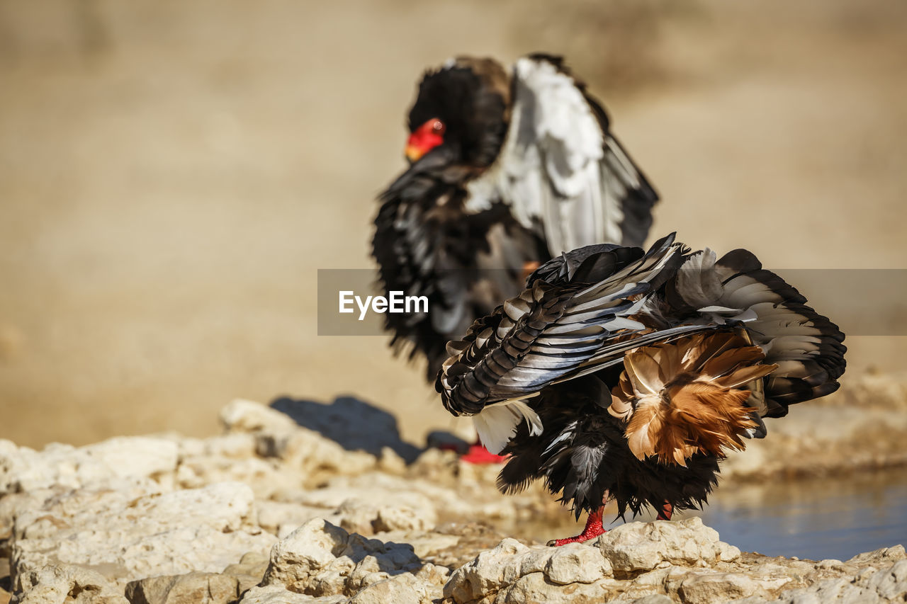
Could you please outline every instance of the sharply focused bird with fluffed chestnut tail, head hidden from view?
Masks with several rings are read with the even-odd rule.
[[[602,508],[699,508],[719,462],[766,417],[829,395],[844,333],[746,249],[721,258],[670,234],[642,248],[571,250],[447,346],[444,407],[509,455],[505,493],[535,480],[571,506],[563,545],[600,535]]]

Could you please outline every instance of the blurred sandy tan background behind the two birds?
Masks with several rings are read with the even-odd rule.
[[[415,82],[453,54],[565,54],[661,193],[653,234],[907,268],[905,32],[898,0],[0,0],[0,437],[210,434],[278,395],[449,427],[385,338],[317,336],[315,286],[370,266]],[[849,337],[851,371],[905,339]]]

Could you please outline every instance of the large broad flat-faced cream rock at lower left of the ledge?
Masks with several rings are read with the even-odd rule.
[[[19,511],[15,590],[33,589],[29,577],[48,565],[100,570],[121,586],[155,575],[219,572],[276,541],[253,523],[253,496],[244,484],[132,494],[83,489]]]

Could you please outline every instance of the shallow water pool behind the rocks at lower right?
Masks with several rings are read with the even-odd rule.
[[[907,544],[907,468],[797,481],[719,483],[709,501],[704,510],[685,511],[675,518],[699,516],[718,531],[721,541],[743,551],[847,560],[863,551]],[[654,520],[654,514],[637,520]],[[544,542],[577,534],[584,521],[574,524],[564,510],[557,526],[540,522],[512,527],[515,533],[502,530]]]

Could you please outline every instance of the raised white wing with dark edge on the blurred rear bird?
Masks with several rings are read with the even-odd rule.
[[[543,231],[552,257],[596,243],[642,245],[658,195],[610,133],[600,104],[556,57],[520,59],[513,80],[494,187],[514,217]],[[472,197],[481,204],[488,195]]]

